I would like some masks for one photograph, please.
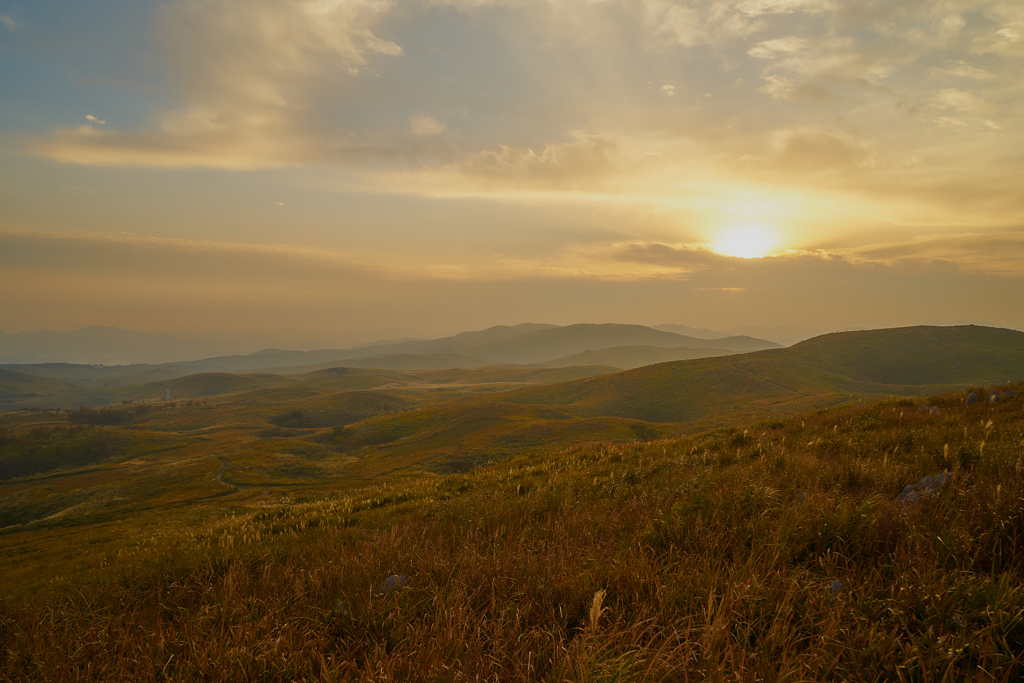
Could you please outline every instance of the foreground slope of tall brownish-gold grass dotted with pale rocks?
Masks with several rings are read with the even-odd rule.
[[[0,677],[1020,680],[1024,394],[965,395],[122,528],[6,583]]]

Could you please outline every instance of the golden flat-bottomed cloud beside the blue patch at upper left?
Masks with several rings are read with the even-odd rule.
[[[357,142],[321,123],[319,92],[326,82],[372,75],[376,55],[402,54],[373,33],[390,10],[388,0],[167,3],[159,26],[182,105],[165,111],[156,126],[103,137],[60,129],[35,147],[96,166],[323,164]]]

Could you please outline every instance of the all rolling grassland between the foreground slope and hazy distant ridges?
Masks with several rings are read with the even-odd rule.
[[[33,528],[67,526],[92,518],[68,510],[141,509],[150,484],[135,485],[135,479],[150,481],[180,463],[189,463],[181,466],[189,474],[172,487],[182,504],[213,495],[272,497],[289,487],[312,495],[468,471],[573,443],[657,440],[893,394],[922,395],[962,387],[956,382],[964,377],[1024,376],[1022,340],[1005,330],[908,328],[623,373],[509,366],[194,375],[174,380],[173,391],[196,398],[0,417],[0,427],[7,424],[17,435],[0,445],[0,494],[8,494],[2,518]],[[70,438],[68,422],[108,428]],[[30,429],[41,430],[36,445],[18,445]],[[170,439],[168,445],[146,456],[146,443],[161,439]],[[90,468],[85,479],[61,470],[84,466]],[[213,488],[211,473],[219,473]],[[28,474],[40,476],[11,478]]]

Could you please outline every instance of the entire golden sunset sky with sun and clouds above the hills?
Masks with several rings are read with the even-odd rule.
[[[1019,0],[0,0],[0,330],[1024,329]]]

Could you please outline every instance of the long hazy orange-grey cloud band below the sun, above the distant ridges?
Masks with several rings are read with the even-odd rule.
[[[0,317],[36,329],[59,316],[69,326],[100,321],[157,330],[254,329],[272,318],[298,329],[406,321],[455,332],[529,319],[797,325],[812,311],[836,329],[929,318],[1021,327],[1024,270],[992,275],[942,260],[971,242],[979,256],[1012,249],[1019,259],[1020,234],[762,259],[724,256],[702,244],[596,242],[521,263],[497,261],[497,274],[496,259],[482,259],[451,278],[325,249],[0,230],[0,287],[16,294],[0,300]]]

